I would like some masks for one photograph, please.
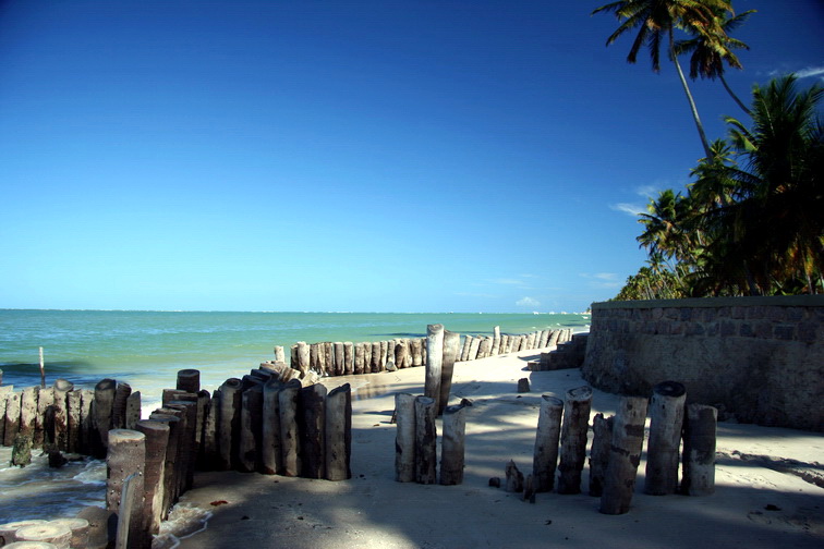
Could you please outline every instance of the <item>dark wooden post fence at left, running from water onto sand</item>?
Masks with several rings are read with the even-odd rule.
[[[113,379],[94,390],[75,390],[62,379],[47,389],[2,387],[0,440],[106,457],[107,510],[122,526],[117,546],[148,548],[192,488],[195,469],[351,478],[351,388],[327,393],[316,379],[284,363],[263,363],[209,393],[201,390],[199,371],[185,369],[147,419],[141,419],[140,392]],[[9,528],[0,525],[4,542],[16,539],[19,528]],[[58,529],[56,540],[65,534]]]

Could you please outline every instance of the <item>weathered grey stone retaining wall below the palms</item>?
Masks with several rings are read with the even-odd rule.
[[[680,381],[722,417],[824,431],[824,295],[595,303],[582,374],[626,394]]]

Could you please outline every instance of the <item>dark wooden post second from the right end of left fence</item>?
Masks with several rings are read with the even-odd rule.
[[[341,345],[342,347],[342,345]],[[342,363],[342,361],[341,361]],[[301,389],[298,400],[298,430],[300,432],[302,471],[306,478],[324,478],[326,472],[326,449],[324,428],[326,426],[327,389],[315,383]]]

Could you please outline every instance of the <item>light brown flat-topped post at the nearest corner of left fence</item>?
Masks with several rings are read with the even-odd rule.
[[[130,429],[109,431],[109,451],[106,454],[106,507],[118,515],[118,521],[126,521],[125,532],[118,532],[128,538],[128,547],[144,547],[146,541],[143,516],[144,472],[146,468],[146,436]],[[131,478],[124,490],[126,479]],[[131,491],[133,490],[133,491]],[[125,493],[123,493],[125,491]],[[130,498],[132,496],[134,499]],[[121,509],[121,504],[123,509]],[[132,503],[130,505],[130,503]],[[131,509],[130,509],[131,507]],[[126,545],[121,547],[125,548]]]

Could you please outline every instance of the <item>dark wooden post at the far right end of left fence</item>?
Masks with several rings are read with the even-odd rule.
[[[352,388],[344,383],[326,396],[326,479],[352,478]]]

